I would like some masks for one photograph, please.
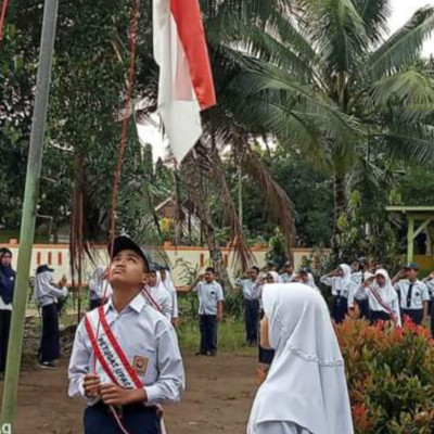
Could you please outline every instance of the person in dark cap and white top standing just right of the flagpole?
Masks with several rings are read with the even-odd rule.
[[[53,269],[41,265],[36,270],[35,302],[42,310],[42,337],[39,348],[39,366],[42,369],[55,369],[55,360],[61,357],[61,337],[59,332],[58,303],[66,298],[66,277],[54,286]]]

